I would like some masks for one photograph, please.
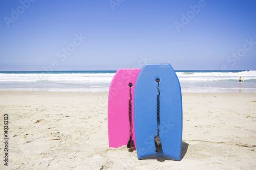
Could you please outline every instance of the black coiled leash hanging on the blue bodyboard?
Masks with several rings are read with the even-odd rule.
[[[159,90],[159,82],[160,79],[156,79],[157,82],[157,90],[159,92],[159,94],[157,94],[157,135],[155,136],[154,140],[155,140],[155,145],[156,145],[156,152],[162,150],[162,143],[161,143],[161,139],[159,137],[159,125],[160,125],[160,90]]]

